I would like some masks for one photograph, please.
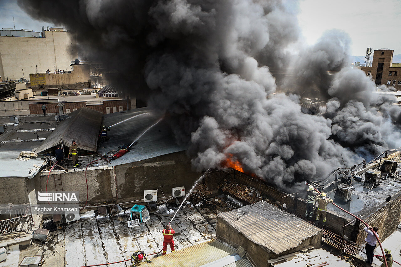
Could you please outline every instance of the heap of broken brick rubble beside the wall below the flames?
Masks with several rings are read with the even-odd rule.
[[[255,188],[243,184],[237,184],[227,179],[217,188],[221,188],[223,192],[250,204],[256,203],[260,200],[259,191]]]

